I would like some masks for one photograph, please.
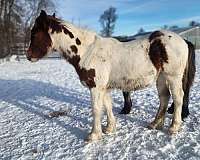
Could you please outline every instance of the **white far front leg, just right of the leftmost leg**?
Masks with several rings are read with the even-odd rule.
[[[103,129],[104,133],[112,133],[116,131],[116,120],[112,112],[112,99],[108,92],[104,95],[103,100],[104,106],[106,108],[107,113],[107,126]]]

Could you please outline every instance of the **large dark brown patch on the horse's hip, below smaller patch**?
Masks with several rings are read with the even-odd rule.
[[[164,70],[163,64],[168,63],[168,56],[165,46],[160,39],[155,39],[150,44],[149,57],[158,71],[160,69]]]

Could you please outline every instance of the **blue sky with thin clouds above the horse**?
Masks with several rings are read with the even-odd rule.
[[[75,24],[100,32],[99,17],[110,6],[117,8],[114,35],[133,35],[163,25],[186,26],[200,22],[200,0],[58,0],[58,15]]]

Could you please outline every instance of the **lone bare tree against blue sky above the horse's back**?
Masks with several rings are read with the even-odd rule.
[[[101,23],[102,30],[101,35],[105,37],[110,37],[114,33],[115,23],[117,20],[116,8],[110,7],[105,10],[100,16],[99,22]]]

